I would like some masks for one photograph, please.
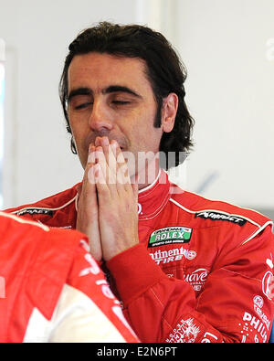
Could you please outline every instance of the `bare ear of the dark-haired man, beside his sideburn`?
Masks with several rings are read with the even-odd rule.
[[[163,133],[170,133],[174,129],[174,122],[178,110],[178,97],[170,93],[163,99],[162,127]]]

